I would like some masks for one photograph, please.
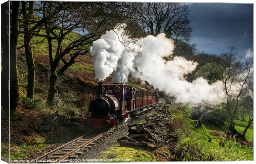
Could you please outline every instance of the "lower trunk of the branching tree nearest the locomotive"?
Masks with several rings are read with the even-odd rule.
[[[58,76],[56,75],[56,73],[51,73],[51,76],[50,76],[50,88],[49,88],[49,91],[48,91],[48,97],[47,97],[47,104],[49,106],[52,106],[53,104],[53,100],[54,100],[54,97],[55,97],[55,93],[56,93],[56,88],[55,88],[55,83],[58,79]]]

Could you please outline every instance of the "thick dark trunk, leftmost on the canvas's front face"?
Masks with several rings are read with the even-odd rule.
[[[19,35],[19,1],[12,1],[12,19],[10,29],[10,114],[16,110],[19,98],[17,72],[17,41]]]

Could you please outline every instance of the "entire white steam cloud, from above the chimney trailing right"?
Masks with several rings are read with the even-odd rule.
[[[202,77],[192,83],[185,80],[184,76],[197,67],[197,62],[179,56],[167,62],[163,59],[172,55],[175,48],[173,40],[166,38],[164,33],[125,45],[123,37],[119,36],[122,30],[118,32],[111,30],[93,42],[90,53],[96,79],[104,80],[112,74],[114,82],[126,83],[131,74],[175,96],[176,102],[214,105],[225,100],[221,81],[210,85]],[[136,49],[136,53],[131,53],[127,47]]]

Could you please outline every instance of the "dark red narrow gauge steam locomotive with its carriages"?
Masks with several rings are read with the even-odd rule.
[[[127,93],[127,94],[126,94]],[[98,83],[83,125],[105,129],[159,105],[158,91],[125,84]]]

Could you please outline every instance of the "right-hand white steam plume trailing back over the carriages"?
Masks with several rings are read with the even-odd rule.
[[[192,83],[185,80],[184,75],[192,72],[197,62],[188,61],[175,56],[166,62],[163,57],[173,53],[173,40],[167,39],[165,34],[156,37],[147,36],[141,40],[142,56],[135,62],[139,77],[152,84],[159,90],[174,95],[177,102],[193,104],[217,104],[223,101],[222,82],[212,85],[198,78]]]

